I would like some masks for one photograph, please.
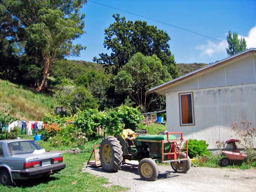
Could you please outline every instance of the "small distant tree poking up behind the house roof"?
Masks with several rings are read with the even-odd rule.
[[[235,55],[241,51],[246,50],[246,40],[238,37],[237,33],[231,31],[227,35],[228,48],[226,48],[228,55]]]

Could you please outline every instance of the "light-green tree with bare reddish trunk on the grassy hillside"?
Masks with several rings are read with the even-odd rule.
[[[45,63],[39,91],[46,86],[46,79],[55,57],[79,55],[83,47],[80,44],[72,45],[72,40],[84,33],[84,23],[81,23],[81,18],[66,18],[64,12],[60,10],[43,9],[41,11],[43,13],[39,18],[40,22],[26,29],[29,42],[40,48]]]

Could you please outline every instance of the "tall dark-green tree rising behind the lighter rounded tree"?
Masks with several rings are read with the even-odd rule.
[[[125,17],[119,14],[113,15],[115,22],[105,29],[104,47],[111,49],[110,55],[101,53],[99,58],[94,57],[93,61],[105,64],[112,69],[113,74],[124,66],[137,52],[144,55],[157,55],[172,78],[178,73],[174,56],[171,54],[168,41],[171,39],[168,33],[157,29],[156,26],[148,25],[146,21],[126,21]],[[110,66],[114,67],[110,68]]]

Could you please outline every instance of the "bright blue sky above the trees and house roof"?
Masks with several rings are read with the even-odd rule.
[[[256,47],[256,1],[170,1],[170,0],[93,0],[118,9],[189,29],[226,42],[229,30],[246,38],[247,48]],[[170,49],[177,63],[214,62],[227,57],[226,43],[211,40],[180,29],[150,21],[92,2],[84,5],[85,31],[74,41],[86,46],[80,57],[69,59],[92,61],[94,56],[106,53],[103,47],[104,29],[114,22],[112,14],[119,13],[126,20],[142,20],[163,29],[171,37]]]

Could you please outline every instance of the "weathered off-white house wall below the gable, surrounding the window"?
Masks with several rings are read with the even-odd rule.
[[[180,126],[178,93],[194,93],[195,125]],[[231,138],[231,125],[243,118],[256,126],[256,83],[166,93],[168,131],[183,131],[189,139],[206,140],[216,149],[216,140]]]

